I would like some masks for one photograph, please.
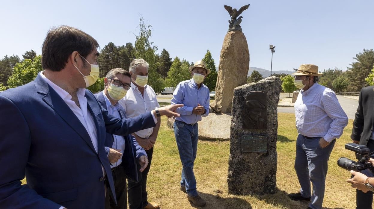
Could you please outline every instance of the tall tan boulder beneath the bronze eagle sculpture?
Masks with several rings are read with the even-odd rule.
[[[224,38],[218,67],[215,99],[211,108],[216,113],[230,113],[233,90],[247,83],[248,44],[241,31],[228,32]]]

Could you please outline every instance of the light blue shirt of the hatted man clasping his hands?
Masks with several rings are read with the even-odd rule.
[[[174,90],[171,104],[184,104],[177,109],[181,117],[175,117],[188,124],[193,124],[201,120],[201,116],[206,117],[209,114],[209,89],[204,84],[197,89],[197,84],[191,80],[180,82]],[[200,104],[205,108],[205,114],[197,115],[192,113],[192,109]]]

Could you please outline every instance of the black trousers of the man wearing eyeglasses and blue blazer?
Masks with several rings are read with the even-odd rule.
[[[112,170],[114,190],[116,191],[117,205],[111,196],[110,188],[105,196],[105,209],[125,209],[127,208],[127,192],[125,170],[121,165]]]

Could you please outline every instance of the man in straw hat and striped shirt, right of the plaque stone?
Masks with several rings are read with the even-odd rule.
[[[308,208],[320,209],[325,194],[327,162],[335,139],[343,134],[348,117],[331,89],[318,82],[318,66],[300,65],[295,86],[300,90],[295,101],[296,141],[295,170],[300,192],[289,194],[292,200],[311,200]],[[313,185],[313,193],[310,190]]]

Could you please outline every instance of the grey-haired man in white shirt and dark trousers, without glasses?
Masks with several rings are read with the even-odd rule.
[[[136,117],[147,111],[154,110],[159,107],[156,99],[156,93],[152,87],[147,85],[148,81],[148,63],[144,59],[134,59],[130,63],[130,74],[132,77],[131,88],[126,96],[119,101],[126,111],[128,117]],[[147,174],[150,169],[153,145],[156,143],[157,134],[160,127],[160,118],[157,118],[156,127],[140,130],[133,133],[139,145],[145,149],[148,156],[148,166],[142,172],[139,182],[129,180],[128,196],[130,209],[157,209],[159,204],[147,201]]]

